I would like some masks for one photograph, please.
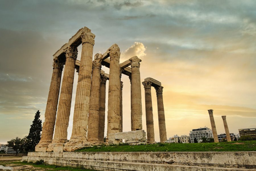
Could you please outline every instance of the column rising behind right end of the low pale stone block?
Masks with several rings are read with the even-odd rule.
[[[131,61],[131,130],[142,129],[142,103],[141,103],[141,75],[140,62],[137,56],[129,59]]]

